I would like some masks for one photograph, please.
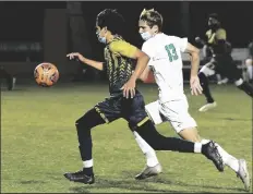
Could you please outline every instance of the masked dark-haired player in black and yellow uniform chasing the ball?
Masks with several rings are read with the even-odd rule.
[[[138,143],[140,140],[142,141],[140,144],[148,143],[157,150],[202,153],[215,163],[219,171],[222,171],[222,159],[213,142],[202,145],[174,137],[165,137],[156,131],[145,111],[143,96],[135,90],[135,82],[146,68],[149,58],[120,36],[123,26],[123,17],[116,10],[107,9],[97,15],[97,36],[98,40],[105,44],[106,63],[89,60],[76,52],[67,56],[98,70],[106,70],[109,77],[110,97],[97,104],[75,122],[84,168],[77,172],[68,172],[64,177],[70,181],[94,183],[91,130],[120,118],[128,121],[129,128],[136,136],[135,140]],[[137,59],[133,74],[131,59]]]

